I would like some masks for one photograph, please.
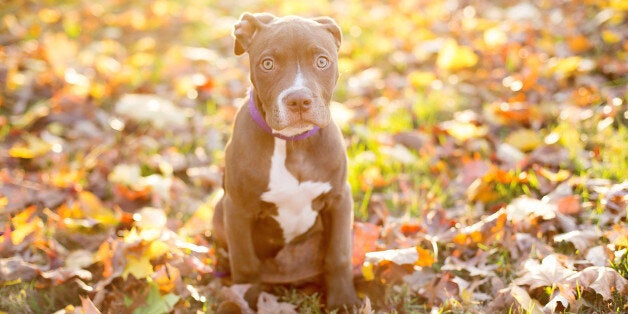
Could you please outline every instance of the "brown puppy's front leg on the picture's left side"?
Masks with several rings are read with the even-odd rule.
[[[231,277],[235,283],[259,284],[260,261],[251,233],[255,217],[246,206],[235,204],[228,195],[223,199],[223,206]]]

